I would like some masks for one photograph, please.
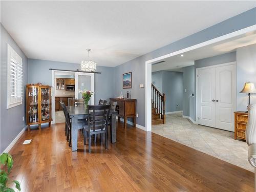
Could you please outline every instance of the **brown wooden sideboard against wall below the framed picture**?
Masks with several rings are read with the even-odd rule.
[[[111,101],[117,101],[116,111],[118,111],[118,120],[123,118],[124,129],[126,129],[127,118],[133,118],[136,126],[136,99],[111,98]]]

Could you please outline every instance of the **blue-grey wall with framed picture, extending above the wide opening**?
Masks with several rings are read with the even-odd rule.
[[[139,88],[140,83],[145,83],[145,61],[197,45],[201,42],[217,38],[252,25],[256,25],[256,8],[231,17],[219,24],[187,36],[160,49],[122,63],[122,65],[115,67],[115,96],[119,96],[122,91],[122,74],[132,71],[133,88],[131,91],[132,97],[137,99],[137,113],[139,113],[137,123],[145,126],[145,88]]]

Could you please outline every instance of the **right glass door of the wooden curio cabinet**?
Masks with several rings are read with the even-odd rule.
[[[41,88],[41,121],[50,119],[50,88]]]

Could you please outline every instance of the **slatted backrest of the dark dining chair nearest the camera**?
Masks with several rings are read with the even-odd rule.
[[[102,131],[108,127],[110,104],[88,105],[88,126],[90,131]]]

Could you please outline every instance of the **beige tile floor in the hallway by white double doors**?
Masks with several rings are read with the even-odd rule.
[[[166,115],[166,123],[153,125],[152,132],[254,172],[246,142],[234,140],[233,132],[194,124],[181,113]]]

